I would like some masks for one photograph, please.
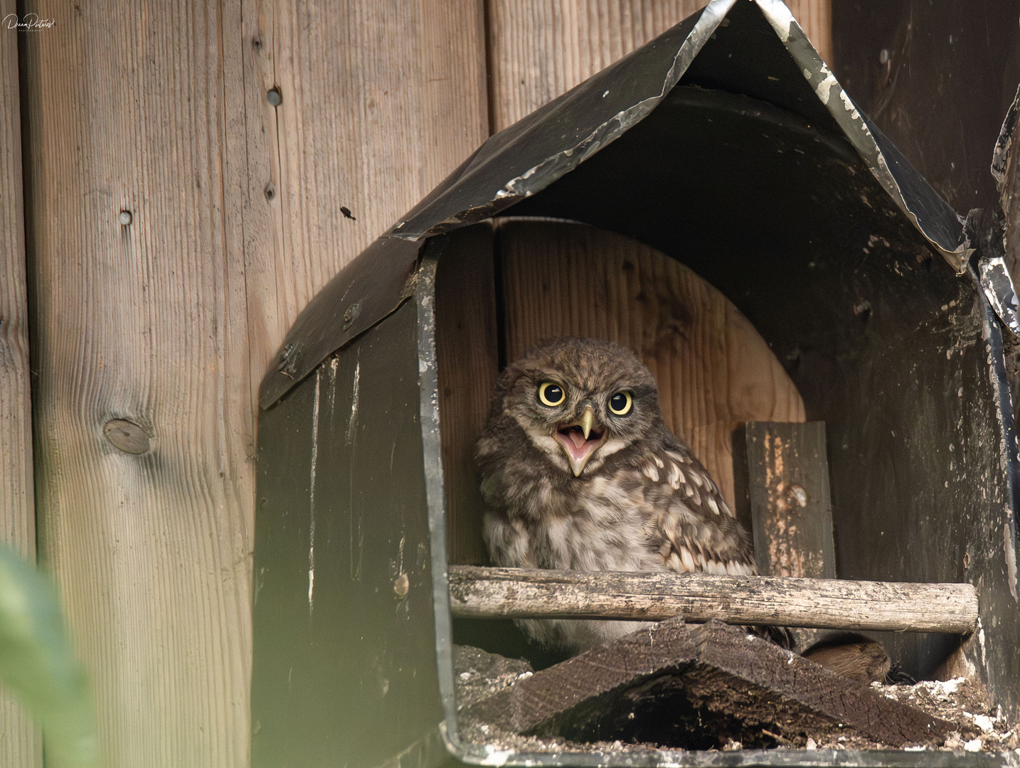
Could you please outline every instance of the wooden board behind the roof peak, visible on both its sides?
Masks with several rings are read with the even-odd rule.
[[[703,8],[705,0],[487,0],[490,113],[502,131]],[[831,61],[830,0],[789,8]]]

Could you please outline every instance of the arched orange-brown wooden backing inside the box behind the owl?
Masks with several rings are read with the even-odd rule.
[[[497,228],[507,357],[544,339],[629,347],[659,385],[666,425],[733,507],[732,431],[804,421],[804,402],[751,322],[677,261],[622,236],[552,221]]]

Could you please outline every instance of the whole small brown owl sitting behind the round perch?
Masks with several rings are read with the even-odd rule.
[[[493,561],[522,568],[756,573],[750,537],[628,349],[558,339],[496,382],[475,457]],[[579,652],[633,631],[620,621],[525,620]]]

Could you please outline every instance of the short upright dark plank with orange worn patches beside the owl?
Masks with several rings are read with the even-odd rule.
[[[749,421],[743,437],[759,572],[835,578],[825,422]]]

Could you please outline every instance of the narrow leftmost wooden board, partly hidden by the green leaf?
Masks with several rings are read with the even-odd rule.
[[[0,0],[0,18],[15,12]],[[29,303],[21,188],[17,34],[0,29],[0,541],[36,557],[29,378]],[[0,765],[38,768],[42,741],[20,705],[0,693]]]

